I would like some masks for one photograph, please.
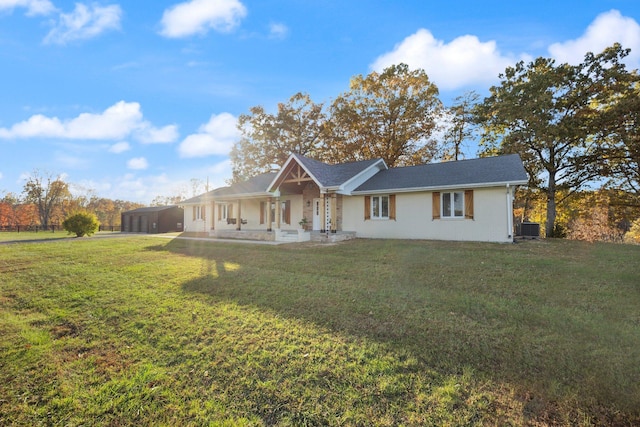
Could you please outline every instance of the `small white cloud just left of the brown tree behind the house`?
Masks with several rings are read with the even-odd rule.
[[[240,137],[237,119],[229,113],[212,115],[198,133],[187,136],[178,147],[180,157],[227,155]]]

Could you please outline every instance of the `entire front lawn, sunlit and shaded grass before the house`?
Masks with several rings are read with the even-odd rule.
[[[0,246],[2,425],[637,425],[640,248]]]

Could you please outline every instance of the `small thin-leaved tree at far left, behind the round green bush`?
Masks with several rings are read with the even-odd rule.
[[[44,228],[49,227],[55,210],[71,198],[69,185],[60,176],[54,178],[48,173],[42,176],[37,170],[27,179],[23,191],[25,201],[33,203],[38,208],[40,225]]]

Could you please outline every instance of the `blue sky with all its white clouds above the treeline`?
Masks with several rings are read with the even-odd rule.
[[[0,0],[0,197],[35,169],[111,199],[190,196],[230,178],[251,106],[330,102],[399,62],[447,104],[616,41],[639,68],[640,1]]]

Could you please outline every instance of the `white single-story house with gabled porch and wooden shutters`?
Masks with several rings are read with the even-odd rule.
[[[184,230],[215,237],[314,236],[513,241],[516,154],[389,168],[382,159],[329,165],[299,154],[275,173],[182,202]]]

